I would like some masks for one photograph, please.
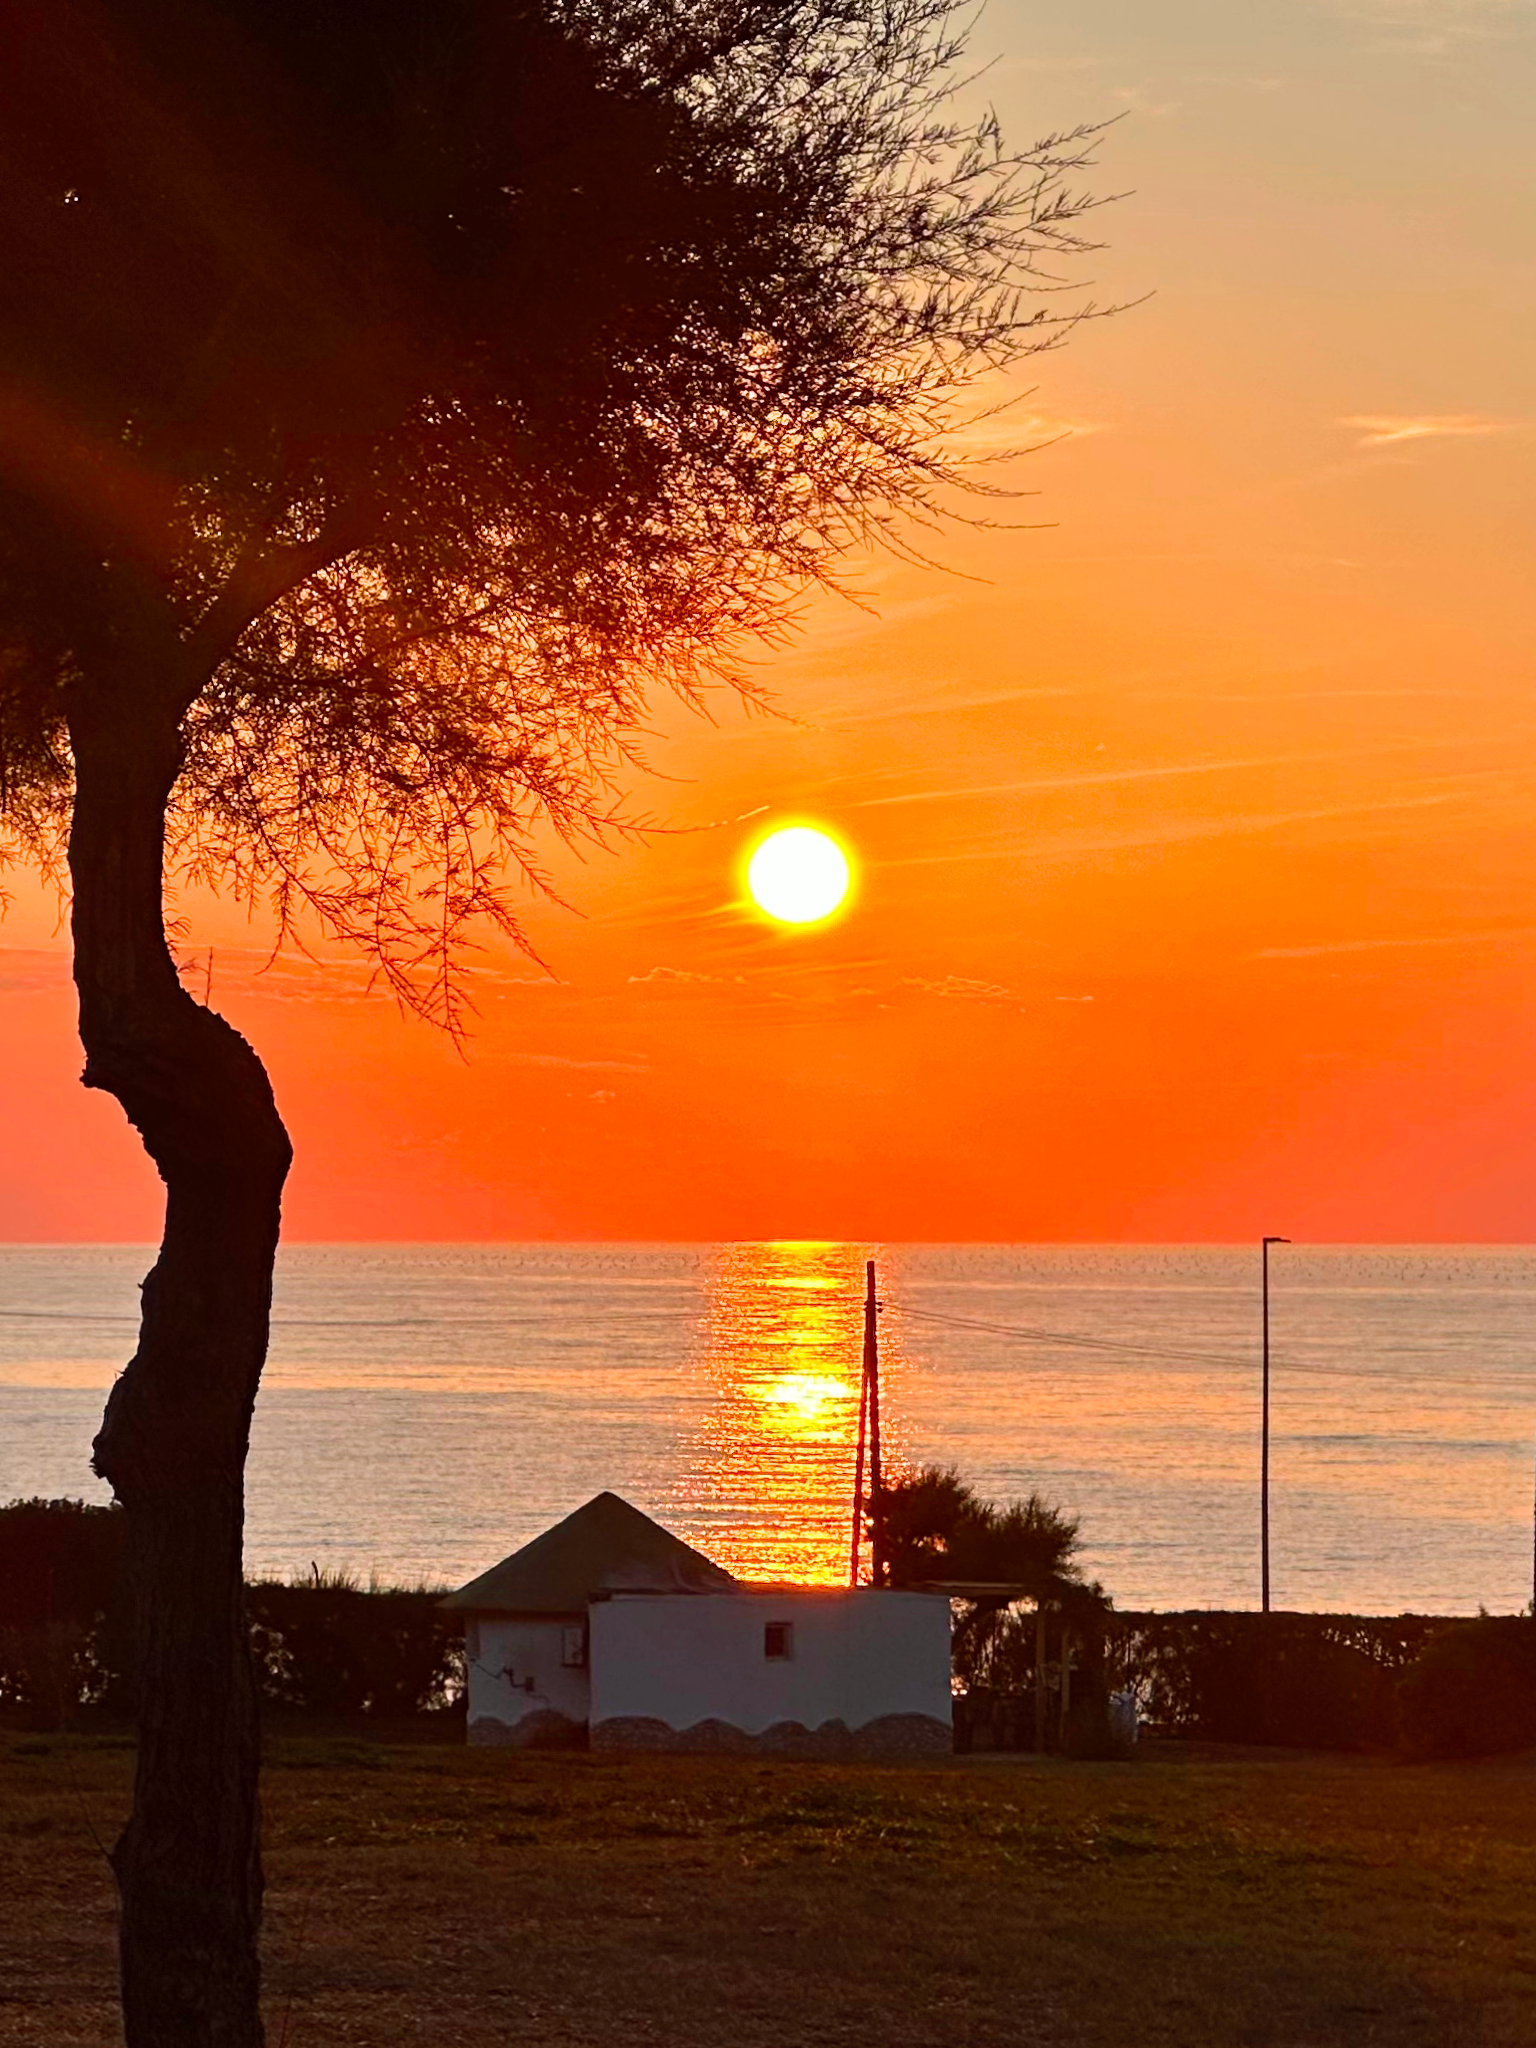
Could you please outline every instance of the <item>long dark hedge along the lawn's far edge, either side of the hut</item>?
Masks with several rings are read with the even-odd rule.
[[[436,1591],[315,1577],[254,1583],[246,1597],[268,1708],[397,1720],[463,1700],[459,1626]],[[1536,1620],[1524,1616],[1198,1610],[1108,1614],[1102,1630],[1077,1647],[1075,1724],[1110,1690],[1130,1690],[1145,1722],[1204,1741],[1425,1757],[1536,1747]],[[1032,1624],[1020,1645],[1032,1645]],[[57,1726],[82,1712],[131,1712],[123,1516],[12,1501],[0,1507],[0,1714]],[[1028,1673],[977,1692],[958,1720],[975,1722],[979,1747],[1028,1745]],[[1053,1710],[1053,1741],[1055,1722]]]

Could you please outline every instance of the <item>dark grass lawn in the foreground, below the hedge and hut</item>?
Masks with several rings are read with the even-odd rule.
[[[131,1751],[0,1737],[0,2042],[115,2042]],[[274,1739],[270,2048],[1532,2048],[1536,1765]]]

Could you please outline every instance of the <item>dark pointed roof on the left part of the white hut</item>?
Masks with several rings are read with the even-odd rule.
[[[723,1593],[733,1585],[731,1573],[702,1550],[616,1493],[598,1493],[449,1593],[442,1606],[475,1614],[582,1614],[594,1593]]]

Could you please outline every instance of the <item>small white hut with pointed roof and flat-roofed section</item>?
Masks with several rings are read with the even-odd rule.
[[[942,1593],[754,1585],[616,1493],[451,1593],[469,1741],[944,1755]]]

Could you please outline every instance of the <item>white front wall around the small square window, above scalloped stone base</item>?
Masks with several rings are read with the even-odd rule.
[[[592,1726],[723,1720],[862,1729],[887,1714],[950,1724],[950,1604],[942,1593],[618,1593],[592,1604]],[[788,1622],[793,1655],[764,1657]]]

